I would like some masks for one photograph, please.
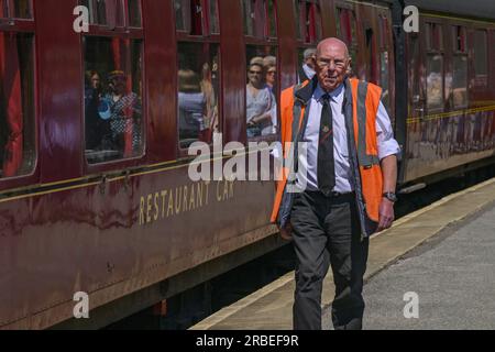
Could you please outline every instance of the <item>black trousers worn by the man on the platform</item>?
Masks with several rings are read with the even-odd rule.
[[[355,196],[296,195],[290,221],[297,258],[294,329],[321,330],[321,290],[330,265],[333,327],[362,329],[369,239],[361,239]]]

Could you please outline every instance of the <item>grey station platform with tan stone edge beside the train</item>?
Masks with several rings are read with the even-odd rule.
[[[408,215],[371,239],[364,329],[495,328],[495,179]],[[294,272],[223,308],[190,330],[292,330]],[[406,319],[406,293],[419,319]],[[322,324],[331,329],[331,271]]]

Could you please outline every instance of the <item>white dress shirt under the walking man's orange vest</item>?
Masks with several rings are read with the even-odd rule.
[[[299,169],[297,174],[297,186],[301,190],[318,190],[318,144],[320,139],[321,110],[323,109],[321,98],[323,95],[323,89],[318,85],[309,106],[308,125],[302,139],[302,142],[307,143],[307,153],[306,155],[305,153],[300,153],[299,155]],[[336,160],[336,187],[333,191],[350,193],[354,189],[350,183],[352,172],[349,161],[345,118],[342,113],[345,86],[342,84],[329,95],[333,113],[333,153]],[[376,133],[380,160],[400,154],[400,147],[394,139],[391,119],[382,102],[380,103],[376,117]]]

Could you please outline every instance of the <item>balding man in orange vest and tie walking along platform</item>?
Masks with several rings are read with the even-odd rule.
[[[345,44],[322,41],[316,62],[312,80],[282,94],[283,145],[294,142],[297,151],[305,142],[307,153],[295,158],[296,177],[278,183],[272,220],[283,232],[293,231],[294,328],[321,329],[322,283],[331,266],[333,326],[362,329],[369,237],[394,221],[400,148],[381,102],[382,89],[346,77],[351,59]],[[285,157],[294,155],[285,151]]]

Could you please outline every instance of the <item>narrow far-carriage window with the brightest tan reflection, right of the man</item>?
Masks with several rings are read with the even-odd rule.
[[[427,56],[427,105],[428,110],[443,109],[443,55]]]

